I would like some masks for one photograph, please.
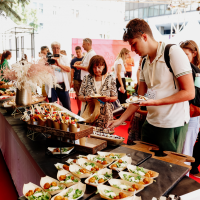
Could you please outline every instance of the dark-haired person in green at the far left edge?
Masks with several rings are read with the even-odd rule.
[[[10,60],[11,57],[12,57],[12,54],[10,51],[3,52],[1,61],[0,61],[0,81],[8,82],[8,80],[5,80],[4,78],[2,78],[2,75],[3,75],[3,71],[6,68],[10,69],[10,67],[8,65],[8,60]]]

